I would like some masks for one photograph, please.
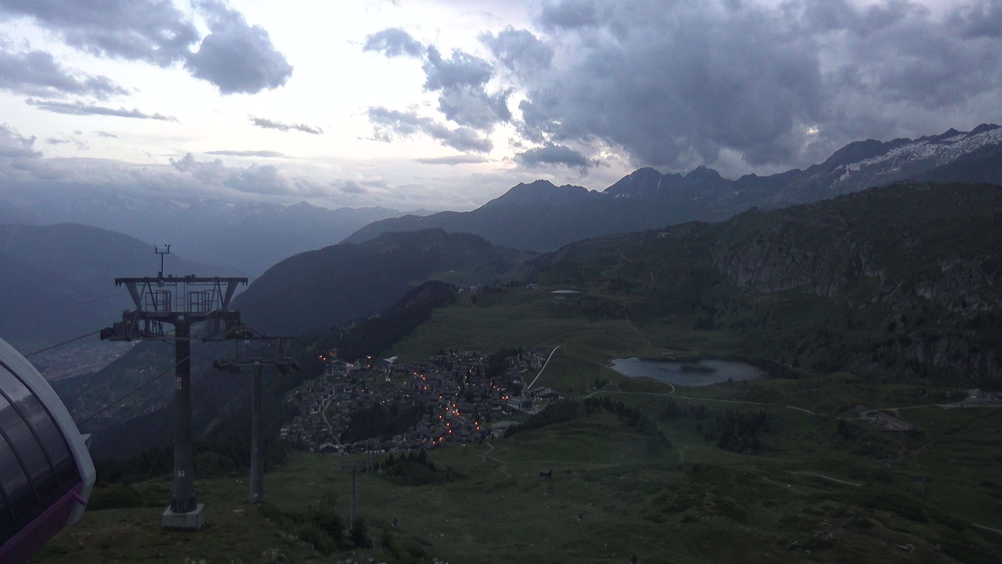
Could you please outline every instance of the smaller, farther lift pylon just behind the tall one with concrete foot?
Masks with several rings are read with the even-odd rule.
[[[300,365],[296,360],[286,355],[285,342],[296,337],[269,337],[267,335],[256,335],[249,327],[241,326],[234,331],[235,339],[234,353],[232,359],[213,360],[212,365],[219,370],[228,372],[239,372],[240,368],[249,366],[254,368],[254,382],[250,392],[250,495],[252,503],[265,501],[265,449],[262,445],[265,436],[265,417],[262,415],[262,374],[265,366],[274,366],[283,374],[288,374],[292,370],[299,370]],[[264,356],[243,359],[241,358],[239,341],[248,343],[252,340],[272,341],[278,339],[278,346],[274,360],[266,360]]]

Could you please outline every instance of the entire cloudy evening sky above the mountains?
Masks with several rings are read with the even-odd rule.
[[[0,0],[0,198],[468,210],[1002,121],[1002,0]]]

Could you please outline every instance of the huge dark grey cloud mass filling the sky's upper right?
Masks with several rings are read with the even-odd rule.
[[[966,115],[975,99],[998,107],[999,5],[936,17],[907,1],[564,0],[537,20],[559,65],[519,68],[497,37],[485,44],[514,67],[526,95],[518,124],[535,143],[597,139],[672,169],[724,150],[797,166],[859,137],[939,127],[925,121]]]

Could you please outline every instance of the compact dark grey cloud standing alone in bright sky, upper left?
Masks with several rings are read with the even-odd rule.
[[[192,76],[215,84],[223,94],[253,94],[289,80],[293,67],[272,44],[265,28],[247,25],[239,12],[221,2],[203,2],[201,6],[211,33],[187,56],[184,67]]]

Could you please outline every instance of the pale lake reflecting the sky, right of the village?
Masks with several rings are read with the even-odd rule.
[[[627,376],[652,378],[679,385],[709,385],[728,379],[750,380],[764,378],[769,372],[746,362],[730,360],[645,360],[643,358],[613,358],[610,367]]]

